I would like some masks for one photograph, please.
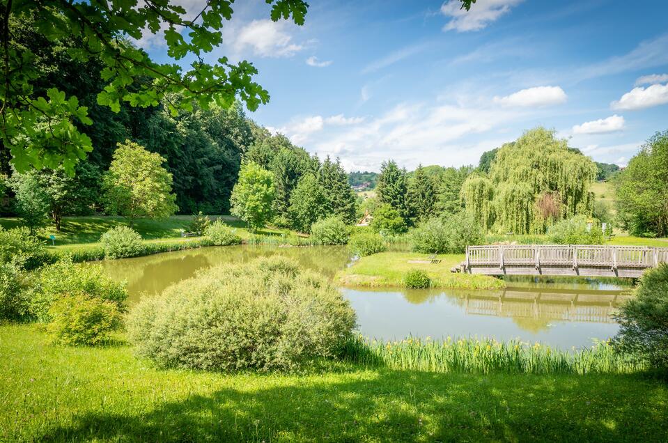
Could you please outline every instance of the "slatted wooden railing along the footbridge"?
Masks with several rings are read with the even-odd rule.
[[[562,265],[655,267],[668,263],[668,247],[589,244],[491,244],[469,246],[465,265]]]

